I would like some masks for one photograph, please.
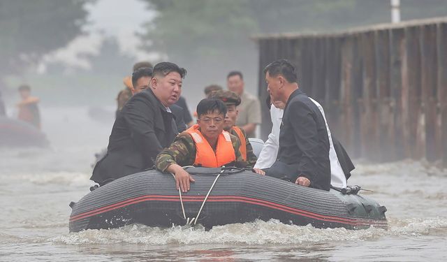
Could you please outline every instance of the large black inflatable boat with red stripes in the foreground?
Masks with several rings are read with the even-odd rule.
[[[239,168],[186,168],[196,182],[179,193],[172,175],[147,170],[72,202],[71,232],[128,224],[212,226],[278,219],[317,228],[387,228],[386,208],[359,194],[301,187]]]

